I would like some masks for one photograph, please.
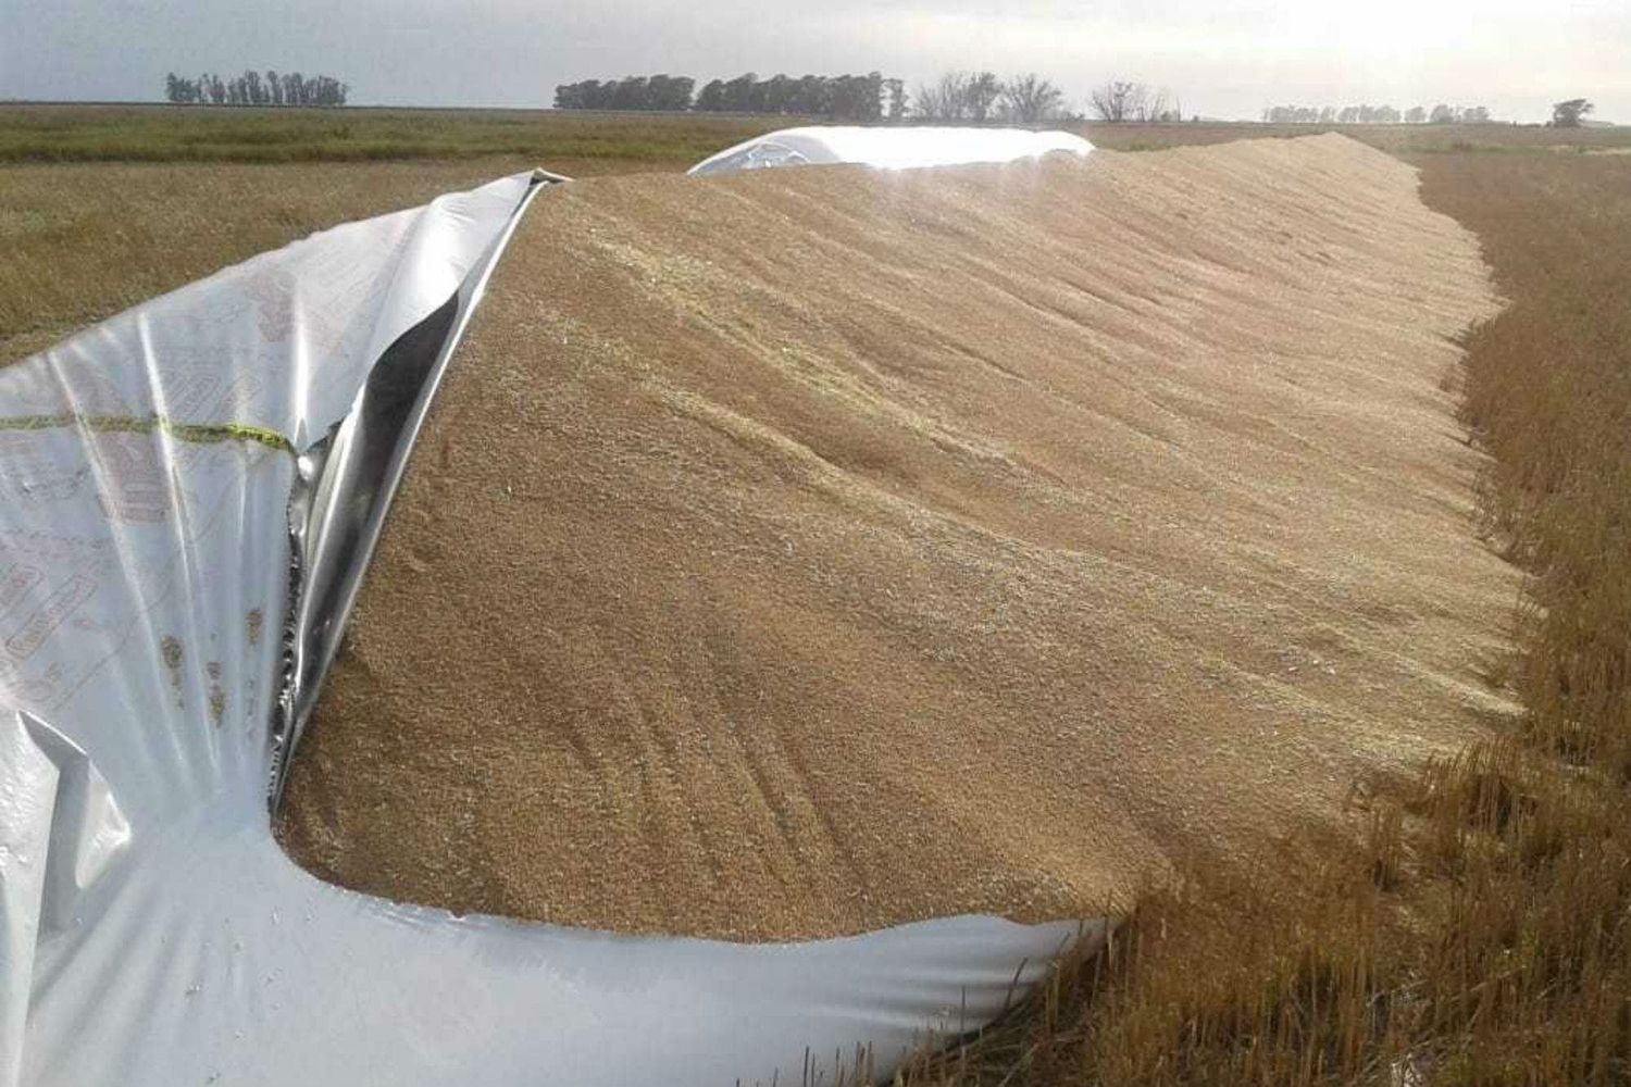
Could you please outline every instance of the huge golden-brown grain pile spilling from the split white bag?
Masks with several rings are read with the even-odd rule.
[[[739,939],[1098,913],[1460,743],[1514,580],[1471,236],[1342,137],[545,192],[281,833]]]

